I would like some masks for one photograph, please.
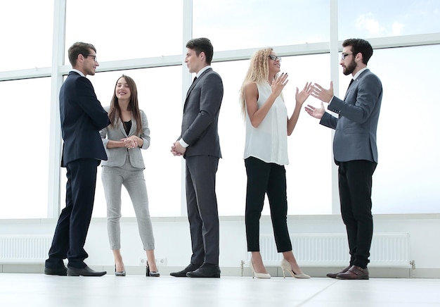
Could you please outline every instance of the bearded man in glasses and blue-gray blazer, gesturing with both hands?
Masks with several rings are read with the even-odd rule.
[[[346,39],[342,43],[342,72],[352,75],[344,100],[333,96],[333,84],[323,89],[314,84],[312,96],[330,103],[328,110],[306,106],[306,112],[320,119],[320,124],[335,129],[333,155],[339,165],[339,200],[342,220],[347,228],[350,263],[341,272],[328,273],[342,280],[368,280],[373,238],[371,214],[372,177],[377,165],[376,131],[382,103],[382,83],[370,72],[367,63],[373,48],[364,39]]]

